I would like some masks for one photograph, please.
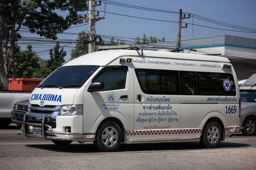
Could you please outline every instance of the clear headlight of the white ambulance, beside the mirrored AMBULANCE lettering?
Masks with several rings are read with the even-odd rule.
[[[82,105],[63,105],[60,110],[61,115],[83,115]]]

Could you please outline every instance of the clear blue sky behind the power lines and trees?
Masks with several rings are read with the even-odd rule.
[[[180,8],[183,12],[197,14],[202,17],[211,18],[214,20],[220,20],[224,23],[236,24],[247,28],[256,28],[256,0],[111,0],[119,3],[129,3],[130,5],[147,7],[147,8],[160,8],[172,11],[179,11]],[[104,11],[104,2],[102,6],[97,6],[96,10]],[[140,9],[126,8],[121,6],[114,6],[107,4],[105,10],[111,13],[131,15],[136,17],[151,18],[157,20],[169,20],[178,21],[178,14],[162,13],[155,11],[145,11]],[[64,13],[60,13],[64,15]],[[81,13],[84,14],[84,13]],[[99,17],[102,17],[104,12],[99,12]],[[186,19],[183,22],[192,23],[192,18]],[[194,24],[233,29],[209,23],[203,20],[194,18]],[[87,31],[87,26],[80,26],[76,28],[70,28],[65,32],[68,33],[79,33],[79,31]],[[234,35],[240,37],[249,37],[256,39],[256,33],[242,33],[233,31],[217,30],[212,28],[204,28],[199,26],[193,27],[193,37],[210,37],[216,35]],[[105,20],[96,22],[97,34],[111,35],[111,36],[122,36],[122,37],[142,37],[145,33],[148,37],[153,36],[157,38],[165,37],[166,41],[177,40],[177,23],[137,19],[125,16],[119,16],[114,14],[105,14]],[[40,37],[36,34],[20,33],[23,37]],[[76,35],[71,34],[59,34],[59,39],[76,39]],[[188,28],[183,28],[181,33],[181,39],[192,38],[192,25],[188,25]],[[103,38],[105,41],[109,39]],[[133,40],[129,40],[133,41]],[[51,44],[52,48],[55,44]],[[65,44],[61,44],[65,45]],[[23,45],[23,47],[26,45]],[[36,46],[33,45],[33,49],[38,52],[38,56],[43,59],[49,59],[47,52],[40,52],[43,50],[50,49],[50,46]],[[67,51],[66,61],[70,58],[70,50],[74,44],[69,45],[69,48],[64,48]]]

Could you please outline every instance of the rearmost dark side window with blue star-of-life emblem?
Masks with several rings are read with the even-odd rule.
[[[198,95],[236,96],[236,86],[232,74],[196,72]]]

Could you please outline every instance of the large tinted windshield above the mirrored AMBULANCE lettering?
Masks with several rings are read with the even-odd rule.
[[[37,88],[80,88],[99,65],[72,65],[55,70]]]

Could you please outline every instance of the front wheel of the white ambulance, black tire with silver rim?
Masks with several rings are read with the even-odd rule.
[[[110,133],[107,134],[106,131]],[[103,136],[105,136],[105,139]],[[96,139],[93,144],[98,150],[102,152],[113,152],[120,146],[121,139],[122,131],[119,125],[117,125],[116,122],[107,121],[98,127],[96,132]]]

